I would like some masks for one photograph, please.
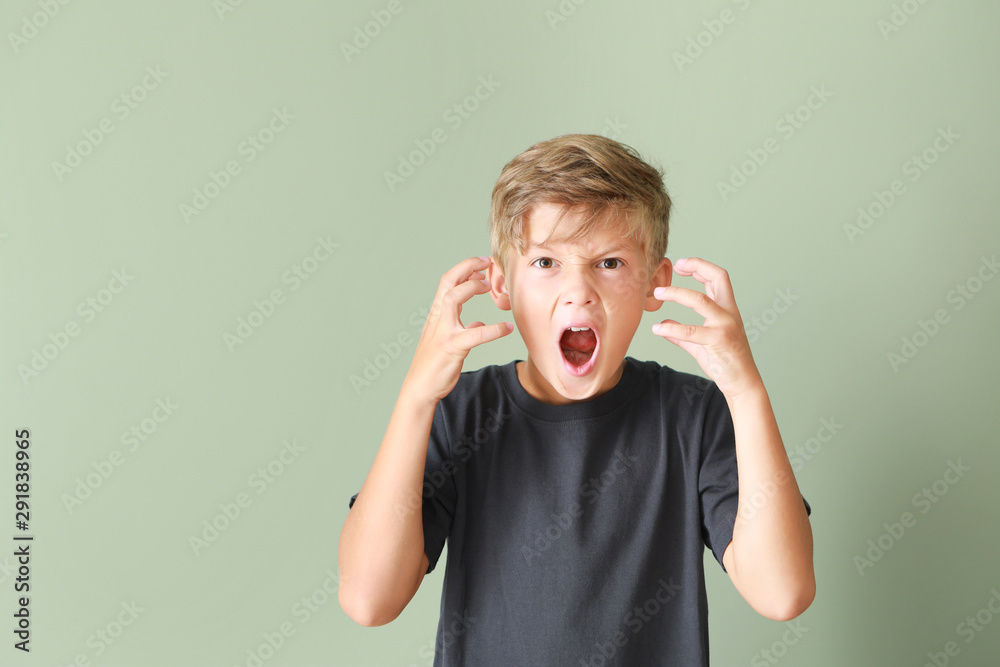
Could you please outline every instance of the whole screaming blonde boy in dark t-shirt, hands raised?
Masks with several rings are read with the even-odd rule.
[[[728,274],[664,257],[662,172],[597,135],[535,144],[493,190],[491,258],[438,285],[339,545],[340,604],[396,618],[445,540],[434,665],[708,665],[703,553],[762,615],[815,595],[800,495]],[[673,272],[706,292],[671,286]],[[462,371],[512,323],[459,320],[489,292],[528,354]],[[654,335],[709,376],[626,356]]]

